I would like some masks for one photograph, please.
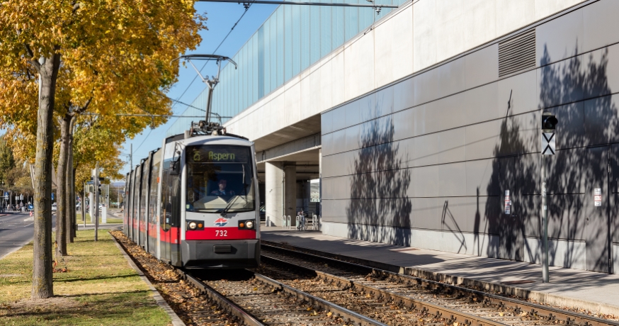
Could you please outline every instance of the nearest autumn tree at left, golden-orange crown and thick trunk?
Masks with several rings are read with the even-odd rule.
[[[195,13],[193,1],[186,0],[0,4],[0,127],[8,128],[16,143],[36,140],[32,298],[53,295],[54,114],[66,135],[63,128],[86,110],[101,119],[115,113],[169,113],[169,100],[162,95],[178,76],[178,65],[171,62],[200,42],[198,31],[205,28],[204,21]],[[154,123],[143,118],[118,120],[119,125],[102,128],[125,128],[130,135]],[[67,140],[60,142],[63,156],[69,153]],[[59,183],[67,182],[67,159],[63,162],[58,170],[64,179]],[[59,199],[59,205],[66,202]]]

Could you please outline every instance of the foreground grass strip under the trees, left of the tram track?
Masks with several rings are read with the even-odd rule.
[[[46,300],[30,300],[32,243],[1,259],[0,325],[171,325],[111,235],[93,239],[93,230],[78,231],[64,257],[69,272],[54,274]]]

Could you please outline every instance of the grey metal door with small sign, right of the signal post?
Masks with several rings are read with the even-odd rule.
[[[590,147],[586,153],[585,239],[586,269],[611,272],[611,219],[609,205],[609,147]]]

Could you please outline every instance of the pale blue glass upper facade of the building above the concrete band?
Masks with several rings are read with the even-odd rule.
[[[365,0],[319,0],[368,4]],[[377,4],[403,4],[406,0],[375,0]],[[213,94],[212,112],[236,116],[286,81],[300,74],[321,57],[390,13],[383,8],[377,16],[371,8],[336,6],[279,6],[263,25],[225,64]],[[210,63],[212,64],[212,63]],[[188,130],[193,116],[204,116],[208,88],[202,91],[168,129],[166,136]],[[222,118],[225,123],[229,118]]]

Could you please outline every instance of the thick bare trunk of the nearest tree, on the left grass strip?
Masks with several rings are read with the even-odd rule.
[[[52,54],[40,65],[40,93],[37,119],[37,152],[34,177],[34,255],[31,297],[54,296],[52,276],[52,154],[53,113],[60,54]]]

